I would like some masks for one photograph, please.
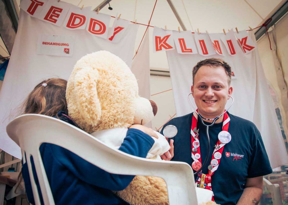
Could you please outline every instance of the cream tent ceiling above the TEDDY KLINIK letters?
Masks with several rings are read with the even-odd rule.
[[[18,5],[20,0],[16,0]],[[61,0],[74,5],[92,6],[92,9],[100,5],[103,0]],[[137,2],[137,5],[136,5]],[[172,0],[177,12],[179,13],[187,30],[192,30],[182,0]],[[270,18],[286,0],[183,0],[187,14],[190,18],[193,29],[199,28],[200,32],[206,30],[210,33],[223,32],[225,30],[237,27],[238,30],[249,29],[261,25],[267,18]],[[102,13],[116,16],[121,13],[121,18],[147,24],[153,10],[155,0],[121,0],[110,1],[113,10],[108,9],[108,4],[101,9]],[[136,9],[135,9],[136,5]],[[111,20],[111,25],[113,21]],[[166,0],[158,0],[151,26],[158,26],[167,29],[178,30],[180,26],[173,11]],[[181,28],[181,27],[180,27]],[[135,49],[138,48],[146,27],[140,25],[136,39]],[[150,45],[152,45],[152,32],[150,30]],[[150,46],[151,47],[151,46]],[[151,48],[150,48],[151,49]],[[161,60],[159,60],[161,59]],[[163,60],[162,60],[163,59]],[[168,69],[165,52],[153,53],[150,50],[150,66],[154,68]]]

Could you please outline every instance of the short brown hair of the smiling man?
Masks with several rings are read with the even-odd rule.
[[[231,67],[230,67],[230,65],[228,63],[226,63],[225,61],[223,61],[220,58],[208,58],[208,59],[199,61],[193,67],[193,70],[192,70],[193,84],[194,84],[194,78],[195,78],[195,75],[196,75],[197,71],[203,65],[208,65],[208,66],[211,66],[211,67],[214,67],[214,68],[218,67],[218,66],[222,66],[225,69],[225,72],[226,72],[226,74],[228,76],[228,86],[230,86],[230,84],[231,84],[231,73],[232,73],[231,72]]]

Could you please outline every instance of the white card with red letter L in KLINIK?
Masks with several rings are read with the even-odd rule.
[[[177,53],[197,54],[196,45],[191,31],[173,31]]]

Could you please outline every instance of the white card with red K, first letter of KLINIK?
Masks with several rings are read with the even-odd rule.
[[[152,41],[154,53],[157,51],[169,51],[175,49],[172,31],[168,31],[155,26],[153,29]]]

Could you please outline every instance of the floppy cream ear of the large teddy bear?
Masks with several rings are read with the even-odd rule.
[[[97,94],[97,69],[82,67],[75,74],[74,95],[77,109],[85,123],[95,126],[101,117],[101,104]]]

